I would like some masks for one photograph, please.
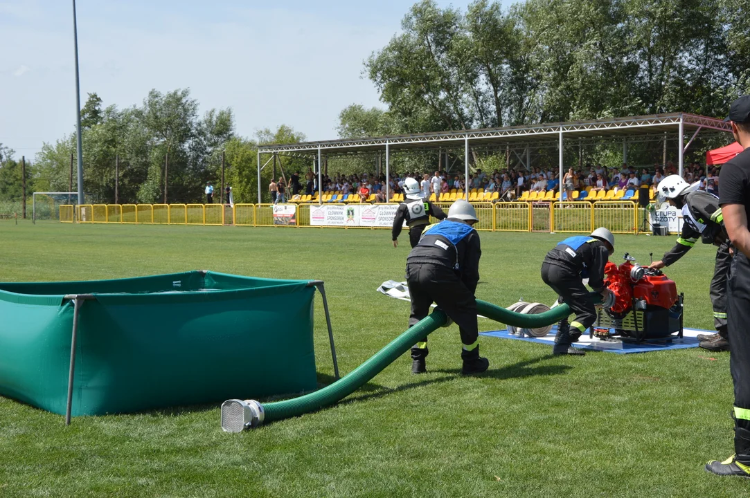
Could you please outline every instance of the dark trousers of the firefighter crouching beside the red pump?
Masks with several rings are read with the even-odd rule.
[[[570,306],[570,311],[575,313],[575,320],[571,324],[568,324],[568,318],[560,321],[555,337],[556,344],[572,344],[596,320],[596,309],[589,298],[589,291],[583,285],[580,274],[547,261],[541,264],[541,279],[557,293],[559,301]]]

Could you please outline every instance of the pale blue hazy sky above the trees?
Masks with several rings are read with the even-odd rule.
[[[287,124],[308,140],[335,139],[341,109],[383,106],[363,61],[412,4],[79,0],[81,106],[92,92],[122,108],[152,88],[190,88],[201,115],[231,107],[240,136]],[[75,121],[72,1],[0,0],[0,143],[33,159]]]

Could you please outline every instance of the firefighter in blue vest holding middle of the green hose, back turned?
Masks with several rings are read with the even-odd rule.
[[[409,327],[428,315],[436,303],[458,324],[463,349],[463,374],[478,374],[490,365],[479,356],[474,291],[479,282],[479,234],[472,225],[476,211],[463,199],[455,201],[448,219],[429,226],[407,258],[407,283],[412,300]],[[412,348],[412,372],[425,372],[427,337]]]

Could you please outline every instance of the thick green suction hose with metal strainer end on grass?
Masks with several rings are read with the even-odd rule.
[[[598,294],[591,293],[595,302]],[[563,304],[550,309],[548,312],[539,313],[538,315],[522,315],[511,312],[508,309],[495,306],[486,301],[476,300],[476,309],[479,315],[498,321],[505,325],[532,329],[536,327],[545,327],[555,324],[562,318],[570,315],[570,308]],[[257,427],[263,422],[273,422],[275,420],[287,419],[293,416],[300,416],[310,413],[320,408],[335,404],[355,392],[360,387],[368,383],[373,377],[383,371],[388,365],[395,361],[399,356],[406,353],[417,342],[421,341],[426,335],[443,327],[448,323],[448,315],[441,309],[435,309],[431,315],[419,321],[414,327],[399,335],[393,341],[375,353],[367,361],[359,365],[349,374],[341,377],[335,383],[323,387],[310,394],[299,396],[299,398],[287,399],[284,401],[273,401],[271,403],[260,404],[258,401],[225,401],[221,407],[222,428],[229,432],[239,432],[244,428]],[[225,407],[226,419],[225,424]],[[246,410],[245,422],[233,424],[233,413]],[[250,420],[248,420],[248,418]],[[229,428],[228,428],[229,427]],[[234,428],[238,430],[233,430]]]

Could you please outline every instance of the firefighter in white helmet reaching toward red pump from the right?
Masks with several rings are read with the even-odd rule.
[[[713,305],[713,324],[717,333],[700,334],[700,347],[712,351],[728,351],[727,340],[727,277],[729,276],[729,237],[724,230],[721,207],[718,197],[708,192],[695,192],[697,183],[690,185],[679,174],[670,174],[658,184],[657,200],[668,201],[682,210],[682,233],[677,243],[664,254],[659,261],[651,264],[652,268],[663,268],[673,264],[687,253],[700,237],[704,244],[718,246],[713,268],[713,278],[709,296]]]

